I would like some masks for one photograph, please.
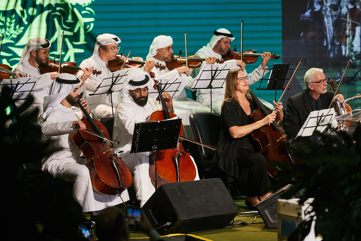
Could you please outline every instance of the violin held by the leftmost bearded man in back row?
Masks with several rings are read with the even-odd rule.
[[[77,62],[65,62],[64,64],[60,65],[60,73],[69,73],[69,74],[77,74],[78,71],[81,68],[78,67]],[[45,73],[50,73],[50,72],[56,72],[59,70],[59,63],[57,63],[56,60],[48,60],[48,63],[45,65],[41,65],[39,67],[40,73],[41,74],[45,74]],[[93,75],[98,75],[101,74],[100,70],[94,70],[92,71]]]

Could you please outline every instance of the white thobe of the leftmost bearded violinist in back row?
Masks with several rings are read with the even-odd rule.
[[[14,69],[14,72],[23,73],[29,77],[40,76],[42,78],[39,79],[39,81],[48,81],[50,85],[52,83],[49,73],[41,74],[40,70],[38,68],[31,66],[29,64],[28,60],[24,60],[21,64],[18,64],[18,66],[16,66],[16,68]],[[22,113],[22,115],[24,113],[30,113],[30,112],[34,111],[34,109],[39,110],[39,116],[41,113],[43,113],[44,97],[49,95],[50,85],[40,88],[40,89],[36,89],[32,92],[32,96],[34,97],[34,102],[30,105],[30,107],[25,112]],[[24,102],[25,102],[25,100],[21,100],[21,101],[17,101],[16,104],[17,104],[17,106],[21,106],[21,104]]]

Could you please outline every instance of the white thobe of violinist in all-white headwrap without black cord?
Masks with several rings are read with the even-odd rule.
[[[160,65],[165,65],[164,61],[157,60],[154,57],[151,57],[148,60],[153,60]],[[154,67],[152,72],[154,72],[155,78],[169,78],[171,80],[181,75],[185,76],[185,74],[179,74],[177,69],[169,70],[167,67],[163,70]],[[191,87],[192,80],[188,81],[186,85],[187,89],[190,89]],[[176,112],[178,117],[182,119],[183,135],[194,140],[195,138],[191,129],[191,124],[189,122],[189,115],[194,113],[210,112],[210,108],[196,102],[195,100],[187,98],[187,94],[184,89],[182,90],[181,94],[178,95],[178,97],[173,99],[173,107],[174,112]]]

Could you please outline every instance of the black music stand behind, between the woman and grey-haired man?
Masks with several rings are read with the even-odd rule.
[[[274,90],[274,101],[277,102],[277,90],[284,90],[284,82],[290,80],[293,69],[290,69],[290,64],[273,64],[273,68],[270,70],[271,73],[269,79],[262,78],[260,87],[256,90]],[[266,89],[261,89],[262,80],[268,80]]]

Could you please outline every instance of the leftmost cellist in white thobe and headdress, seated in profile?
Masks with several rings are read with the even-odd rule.
[[[44,98],[42,141],[53,141],[52,147],[56,151],[42,160],[42,170],[54,178],[74,182],[73,196],[83,212],[99,211],[122,203],[122,199],[93,190],[89,169],[83,165],[86,160],[79,158],[81,152],[71,141],[70,133],[86,128],[71,109],[79,98],[80,84],[80,78],[68,73],[60,74],[52,83],[51,92]],[[81,104],[91,114],[87,101],[81,99]],[[129,200],[128,192],[124,191],[121,197],[124,201]]]

